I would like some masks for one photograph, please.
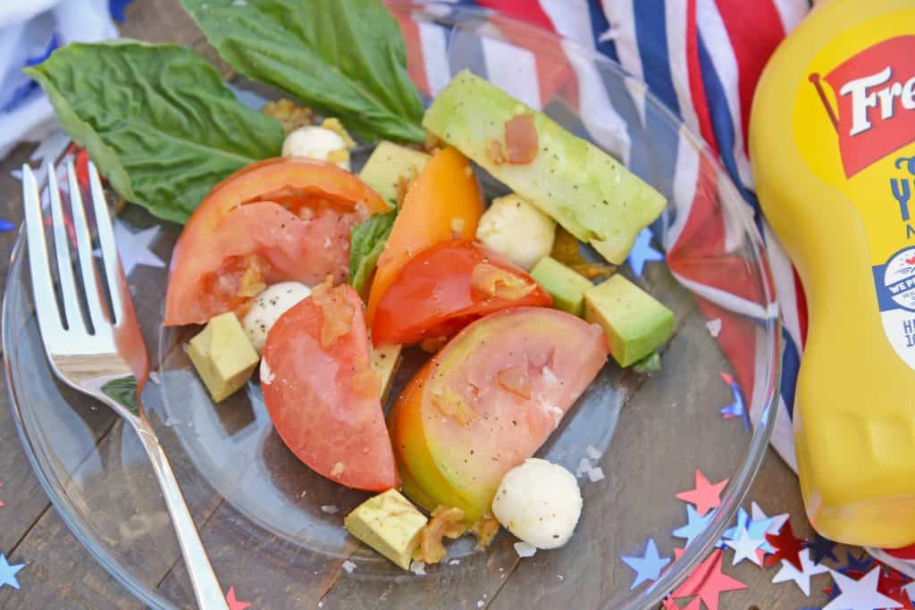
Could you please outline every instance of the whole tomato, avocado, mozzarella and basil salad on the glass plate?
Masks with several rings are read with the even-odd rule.
[[[535,455],[604,366],[660,367],[673,312],[614,272],[662,195],[469,71],[424,108],[378,2],[181,4],[296,102],[258,112],[193,51],[135,41],[29,73],[124,199],[184,224],[163,324],[197,328],[213,401],[259,384],[289,451],[366,492],[346,529],[404,570],[500,527],[524,556],[563,546],[576,476]],[[390,396],[407,349],[425,365]]]

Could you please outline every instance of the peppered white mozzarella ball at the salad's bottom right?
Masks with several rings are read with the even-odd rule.
[[[521,540],[538,549],[556,549],[572,538],[581,505],[572,473],[532,457],[502,477],[492,514]]]

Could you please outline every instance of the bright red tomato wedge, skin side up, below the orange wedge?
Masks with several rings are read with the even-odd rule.
[[[443,241],[404,265],[378,303],[371,340],[378,346],[451,337],[500,309],[552,304],[530,275],[498,254]]]

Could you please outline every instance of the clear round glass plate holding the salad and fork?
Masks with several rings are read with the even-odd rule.
[[[732,313],[730,319],[755,328],[755,345],[735,349],[747,350],[743,356],[754,363],[755,385],[745,400],[763,421],[748,432],[719,415],[733,400],[719,372],[733,370],[694,294],[666,265],[649,263],[633,279],[677,316],[662,371],[640,375],[610,360],[539,452],[573,472],[588,445],[602,455],[597,465],[606,478],[579,479],[585,506],[571,542],[520,560],[514,540],[503,531],[488,551],[475,551],[472,540],[457,540],[449,546],[449,561],[427,566],[422,575],[404,573],[343,529],[343,516],[366,495],[332,484],[296,460],[274,433],[255,382],[229,401],[212,404],[182,349],[196,329],[160,327],[165,262],[178,227],[127,206],[116,219],[117,233],[146,345],[158,363],[144,401],[216,572],[225,588],[234,586],[239,599],[256,608],[310,607],[319,601],[324,608],[656,604],[729,526],[769,439],[780,327],[770,313],[776,311],[775,294],[752,216],[701,139],[610,60],[535,27],[459,5],[394,5],[393,12],[418,28],[425,42],[429,55],[422,63],[421,49],[408,45],[411,75],[424,92],[464,68],[488,75],[622,158],[661,190],[670,203],[653,229],[664,246],[680,235],[681,261],[702,264],[713,274],[745,276],[746,294],[756,295],[749,309],[766,314]],[[435,49],[441,51],[438,58]],[[542,76],[539,84],[534,67]],[[629,114],[619,112],[626,103],[632,106]],[[627,121],[627,115],[634,118]],[[725,252],[701,254],[708,251],[704,232],[683,231],[685,204],[674,191],[682,185],[672,166],[678,147],[682,163],[705,172],[694,207],[726,228]],[[365,152],[357,155],[357,167]],[[504,192],[482,172],[480,179],[488,196]],[[139,599],[156,608],[193,607],[166,506],[134,433],[49,372],[22,245],[20,239],[10,265],[3,347],[16,424],[32,465],[70,529]],[[689,252],[696,254],[691,258]],[[620,273],[632,278],[628,266]],[[398,387],[419,362],[417,354],[406,359]],[[633,573],[619,556],[642,554],[649,538],[665,556],[682,546],[671,532],[685,521],[684,504],[673,496],[692,487],[696,468],[711,480],[730,480],[721,507],[657,582],[630,591]],[[351,573],[342,569],[345,560],[356,565]]]

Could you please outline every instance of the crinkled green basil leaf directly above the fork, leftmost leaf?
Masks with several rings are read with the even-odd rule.
[[[161,219],[184,222],[222,178],[283,147],[280,123],[188,48],[71,44],[25,71],[118,194]]]

